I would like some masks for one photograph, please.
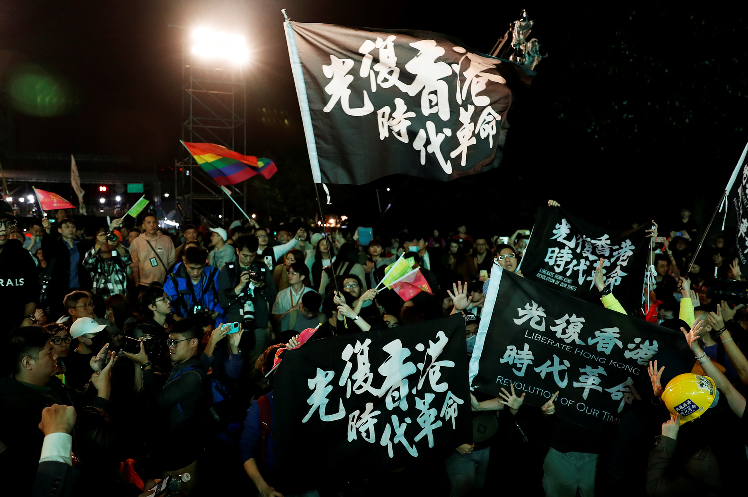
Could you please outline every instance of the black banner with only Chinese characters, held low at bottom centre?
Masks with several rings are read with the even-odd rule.
[[[460,314],[307,342],[283,354],[273,393],[281,472],[366,475],[416,457],[447,457],[470,443]]]

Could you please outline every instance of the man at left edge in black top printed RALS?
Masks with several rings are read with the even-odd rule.
[[[39,300],[39,280],[34,256],[10,231],[18,224],[13,206],[0,200],[0,297],[7,328],[34,324]]]

